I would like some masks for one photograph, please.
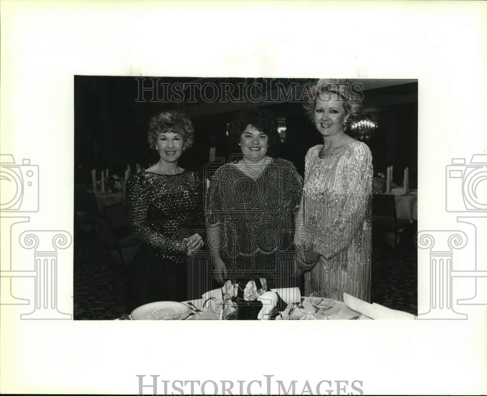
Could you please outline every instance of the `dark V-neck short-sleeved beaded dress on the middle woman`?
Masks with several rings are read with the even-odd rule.
[[[293,212],[301,192],[298,171],[280,158],[257,179],[233,163],[218,169],[206,195],[206,222],[221,225],[220,255],[229,276],[262,276],[269,288],[292,286]]]

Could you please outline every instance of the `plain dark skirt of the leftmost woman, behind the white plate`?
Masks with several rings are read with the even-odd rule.
[[[141,246],[127,279],[126,312],[154,301],[187,301],[186,257],[181,254],[169,260]]]

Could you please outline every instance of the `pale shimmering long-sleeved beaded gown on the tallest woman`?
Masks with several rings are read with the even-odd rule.
[[[343,301],[345,291],[370,301],[372,156],[360,142],[324,156],[322,147],[306,154],[295,237],[320,254],[318,264],[305,273],[305,293]]]

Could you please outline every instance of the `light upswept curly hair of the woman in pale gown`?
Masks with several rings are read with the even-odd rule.
[[[351,90],[352,82],[338,78],[320,79],[310,87],[309,95],[304,99],[303,107],[306,109],[306,115],[311,122],[314,122],[315,106],[318,95],[323,93],[336,93],[343,101],[345,115],[349,116],[347,126],[357,120],[362,114],[361,98],[356,98],[356,93]]]

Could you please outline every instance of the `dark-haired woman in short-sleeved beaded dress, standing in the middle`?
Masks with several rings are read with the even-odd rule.
[[[291,286],[302,178],[291,162],[267,155],[278,138],[268,110],[241,110],[229,138],[242,159],[220,167],[206,195],[207,244],[217,278],[263,277],[269,288]]]

